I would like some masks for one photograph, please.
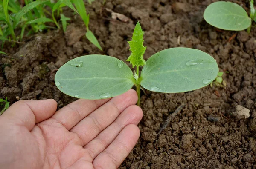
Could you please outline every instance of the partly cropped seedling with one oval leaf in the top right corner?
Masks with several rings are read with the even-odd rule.
[[[252,21],[256,22],[253,0],[250,0],[250,16],[236,3],[218,1],[211,3],[204,11],[204,19],[212,26],[230,31],[247,29],[250,33]]]

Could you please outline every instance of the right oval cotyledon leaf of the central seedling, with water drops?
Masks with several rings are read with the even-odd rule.
[[[154,92],[187,92],[210,84],[218,74],[213,57],[197,49],[170,48],[151,56],[141,72],[141,86]]]

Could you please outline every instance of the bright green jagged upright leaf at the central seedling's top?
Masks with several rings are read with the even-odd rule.
[[[146,64],[143,59],[143,54],[145,53],[146,47],[143,46],[143,30],[141,29],[140,23],[137,22],[134,33],[132,35],[132,40],[128,41],[130,45],[131,55],[126,61],[129,61],[134,66],[143,66]]]

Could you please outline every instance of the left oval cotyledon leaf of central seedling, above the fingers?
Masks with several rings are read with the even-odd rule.
[[[72,97],[94,100],[127,92],[134,85],[134,78],[121,60],[95,54],[77,57],[61,66],[55,85]]]

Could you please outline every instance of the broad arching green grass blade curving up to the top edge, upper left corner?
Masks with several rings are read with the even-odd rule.
[[[43,4],[43,3],[47,2],[47,1],[49,1],[49,0],[37,0],[37,1],[33,1],[32,3],[29,3],[26,6],[24,6],[15,16],[14,27],[17,26],[17,23],[20,21],[21,17],[24,14],[26,14],[27,12],[29,12],[30,10],[32,10],[36,6],[38,6],[40,4]]]

